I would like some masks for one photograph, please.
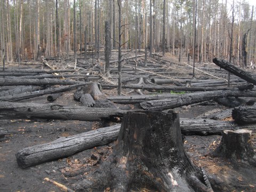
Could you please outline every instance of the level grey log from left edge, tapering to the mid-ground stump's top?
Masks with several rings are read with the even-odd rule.
[[[74,85],[83,82],[61,80],[57,78],[25,79],[25,78],[0,78],[0,86],[6,85]]]

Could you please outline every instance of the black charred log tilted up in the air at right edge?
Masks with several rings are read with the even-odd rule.
[[[252,83],[253,85],[256,85],[256,79],[253,77],[250,73],[246,72],[245,70],[242,70],[234,65],[232,65],[230,62],[220,60],[217,58],[214,58],[212,60],[217,66],[229,71],[230,73],[244,79],[245,81]]]

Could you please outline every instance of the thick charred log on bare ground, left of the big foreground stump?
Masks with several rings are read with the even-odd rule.
[[[17,163],[25,168],[67,157],[85,149],[106,145],[116,140],[119,130],[120,125],[114,125],[24,148],[16,154]]]

